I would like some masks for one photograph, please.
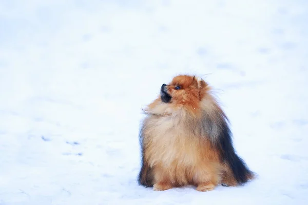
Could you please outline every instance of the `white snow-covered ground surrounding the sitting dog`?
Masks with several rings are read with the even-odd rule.
[[[0,204],[307,204],[304,0],[0,1]],[[245,187],[137,185],[141,107],[172,76],[217,91]]]

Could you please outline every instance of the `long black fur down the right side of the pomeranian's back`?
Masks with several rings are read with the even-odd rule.
[[[239,185],[251,179],[254,173],[248,169],[243,159],[235,152],[232,141],[232,132],[228,126],[227,117],[222,114],[221,132],[216,141],[216,149],[220,152],[221,162],[226,163],[233,172],[233,176]]]

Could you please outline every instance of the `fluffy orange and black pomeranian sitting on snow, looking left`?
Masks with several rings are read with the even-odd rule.
[[[255,177],[236,154],[228,119],[202,78],[174,77],[144,112],[140,185],[155,191],[186,185],[210,191]]]

